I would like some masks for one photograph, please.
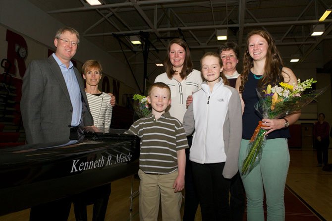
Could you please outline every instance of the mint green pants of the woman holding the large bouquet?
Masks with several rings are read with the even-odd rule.
[[[249,140],[242,139],[239,166],[246,157]],[[287,139],[267,140],[259,165],[241,176],[247,196],[247,221],[264,221],[264,190],[267,204],[268,221],[284,221],[284,188],[289,166]],[[264,186],[264,189],[263,189]]]

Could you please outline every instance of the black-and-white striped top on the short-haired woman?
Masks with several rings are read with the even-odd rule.
[[[112,118],[111,96],[104,92],[98,95],[86,93],[86,96],[94,126],[98,127],[101,132],[109,132]]]

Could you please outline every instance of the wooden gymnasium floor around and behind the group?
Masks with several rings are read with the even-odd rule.
[[[305,201],[309,208],[315,210],[322,220],[332,221],[332,172],[323,171],[322,167],[316,166],[316,152],[312,149],[292,149],[290,159],[286,185]],[[331,149],[329,159],[331,163]],[[138,185],[139,180],[134,179],[134,190],[138,189]],[[131,176],[112,182],[106,221],[139,221],[138,198],[133,200],[132,212],[129,211],[130,188]],[[8,214],[0,217],[0,221],[27,221],[29,212],[28,209]],[[91,220],[92,206],[88,206],[88,214],[88,219]],[[68,221],[75,221],[73,210],[70,211]],[[201,221],[199,211],[195,221]]]

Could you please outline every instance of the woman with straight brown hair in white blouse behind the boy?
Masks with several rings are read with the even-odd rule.
[[[166,72],[158,75],[155,82],[163,82],[168,85],[172,99],[169,113],[182,122],[187,110],[187,97],[200,89],[203,82],[201,72],[193,69],[189,47],[182,39],[173,39],[169,42],[164,66]],[[192,136],[188,136],[187,139],[190,147]],[[186,149],[185,152],[186,175],[183,221],[194,221],[199,202],[193,185],[189,149]]]

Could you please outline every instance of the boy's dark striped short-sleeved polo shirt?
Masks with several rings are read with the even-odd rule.
[[[125,133],[141,138],[140,169],[145,173],[168,174],[177,170],[177,153],[188,147],[182,123],[162,114],[156,120],[153,114],[140,118]]]

